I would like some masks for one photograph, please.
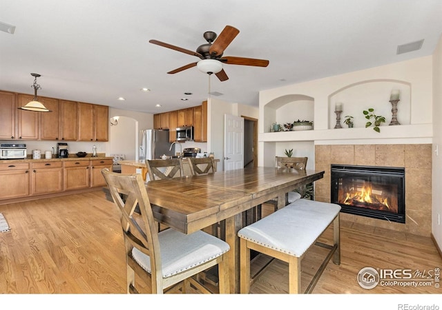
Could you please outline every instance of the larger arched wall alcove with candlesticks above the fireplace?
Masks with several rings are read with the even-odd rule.
[[[340,124],[347,127],[345,116],[353,116],[354,127],[365,127],[367,119],[363,111],[368,108],[374,109],[374,114],[385,117],[383,125],[389,125],[392,121],[392,104],[390,95],[392,90],[398,90],[400,101],[398,102],[397,119],[401,125],[411,123],[411,83],[394,79],[374,79],[359,81],[336,90],[328,97],[329,129],[336,125],[336,104],[342,106]]]

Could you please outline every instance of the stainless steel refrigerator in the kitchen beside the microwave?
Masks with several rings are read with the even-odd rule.
[[[169,151],[169,130],[140,130],[140,136],[140,159],[161,159],[163,155],[175,155],[175,145]]]

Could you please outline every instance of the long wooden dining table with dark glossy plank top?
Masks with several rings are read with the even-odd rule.
[[[184,234],[226,220],[230,291],[238,293],[240,257],[237,233],[243,225],[243,213],[274,198],[278,198],[278,208],[284,207],[288,192],[323,178],[324,173],[257,167],[151,180],[146,183],[146,189],[155,219]]]

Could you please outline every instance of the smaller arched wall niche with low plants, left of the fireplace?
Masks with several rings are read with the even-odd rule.
[[[314,121],[314,98],[288,94],[269,101],[264,107],[264,131],[271,132],[273,123],[281,126],[294,121]]]

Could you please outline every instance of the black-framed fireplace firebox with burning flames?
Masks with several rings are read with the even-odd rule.
[[[405,168],[332,165],[332,203],[341,212],[405,223]]]

